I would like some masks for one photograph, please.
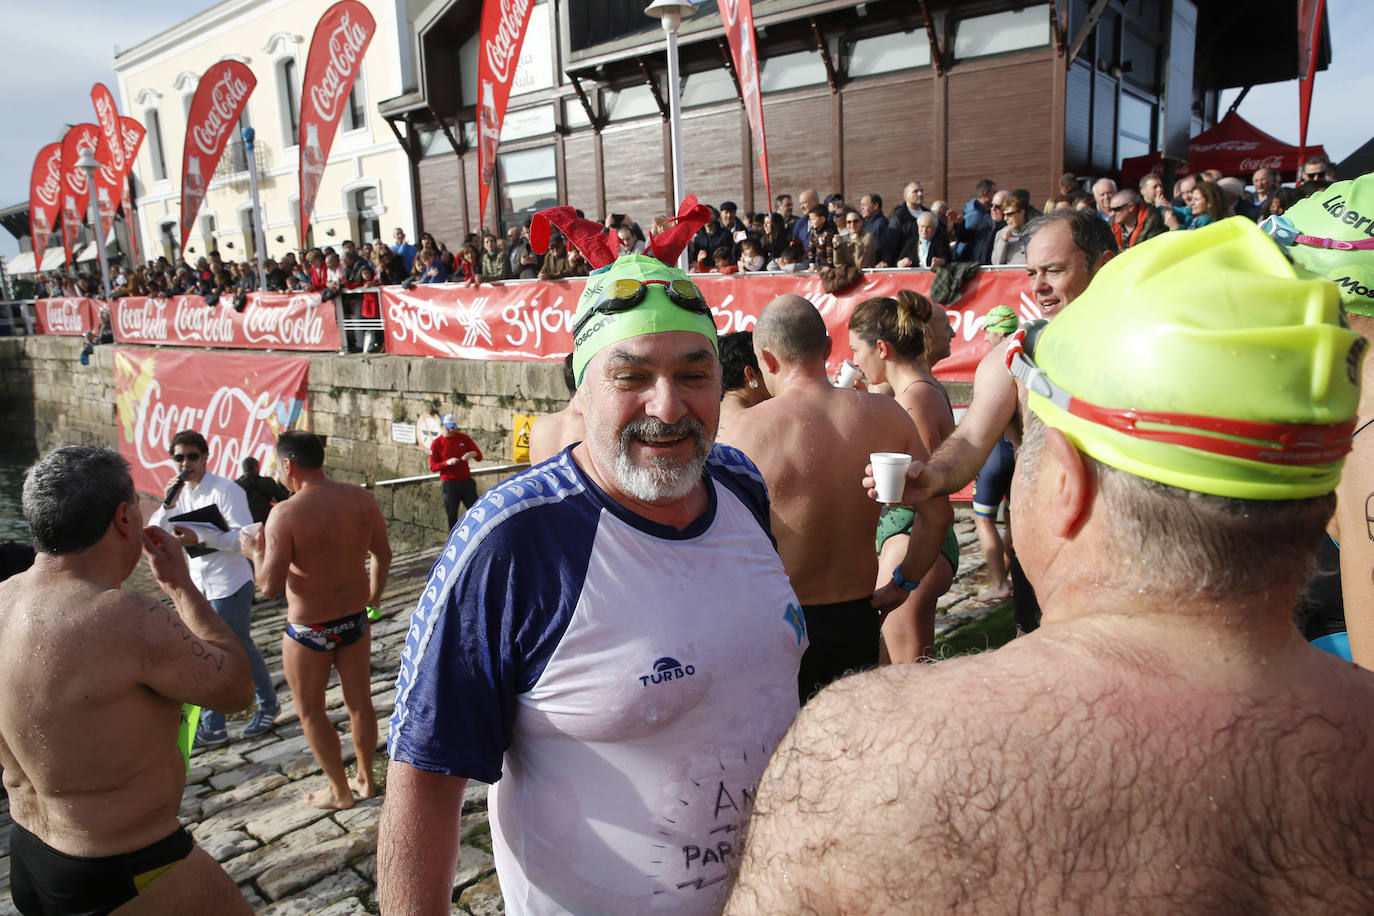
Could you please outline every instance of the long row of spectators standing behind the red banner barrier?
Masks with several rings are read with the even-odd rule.
[[[1331,162],[1315,155],[1304,162],[1297,187],[1281,187],[1279,174],[1259,169],[1246,185],[1239,177],[1216,169],[1179,177],[1167,194],[1158,174],[1139,180],[1138,188],[1118,187],[1113,179],[1088,184],[1066,173],[1058,194],[1036,209],[1024,188],[999,188],[984,179],[963,206],[945,201],[926,202],[921,181],[908,183],[901,202],[890,211],[879,194],[864,194],[857,205],[834,192],[822,199],[808,188],[796,199],[790,194],[774,198],[771,211],[741,213],[734,201],[709,207],[710,222],[692,238],[688,255],[697,273],[818,272],[841,280],[857,277],[870,268],[940,268],[965,261],[984,265],[1025,264],[1026,222],[1041,211],[1057,209],[1096,210],[1112,225],[1117,243],[1132,247],[1162,232],[1197,229],[1228,216],[1260,221],[1279,216],[1297,201],[1325,188],[1334,179]],[[578,217],[583,213],[578,211]],[[655,217],[644,227],[622,213],[603,220],[606,232],[620,240],[620,253],[642,253],[649,235],[665,227]],[[227,261],[218,250],[196,258],[165,255],[132,269],[111,268],[111,297],[202,295],[212,304],[221,298],[242,308],[240,294],[265,288],[269,293],[322,293],[335,295],[378,286],[422,283],[466,283],[493,280],[561,280],[589,273],[587,258],[576,246],[554,233],[550,247],[537,253],[530,244],[529,220],[511,224],[504,238],[488,229],[469,232],[455,253],[430,232],[420,232],[418,244],[404,229],[394,229],[393,243],[381,239],[339,243],[339,247],[312,247],[297,255],[289,251],[262,262],[260,286],[257,258]],[[52,272],[38,277],[36,297],[99,297],[98,275],[67,276]],[[837,286],[848,286],[837,282]],[[375,297],[374,297],[375,298]],[[370,308],[371,306],[371,308]],[[361,306],[363,317],[375,317],[375,301]]]

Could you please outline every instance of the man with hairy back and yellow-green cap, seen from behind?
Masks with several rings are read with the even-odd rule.
[[[1235,218],[1025,334],[1011,523],[1044,625],[812,700],[727,912],[1374,911],[1374,676],[1293,625],[1355,426],[1342,324]]]

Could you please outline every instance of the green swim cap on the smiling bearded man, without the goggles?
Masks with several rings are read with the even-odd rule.
[[[580,328],[577,324],[603,301],[611,284],[617,280],[658,280],[649,283],[643,302],[624,312],[594,314]],[[720,342],[716,338],[716,320],[710,314],[691,312],[668,298],[662,282],[687,280],[687,275],[671,268],[658,258],[643,254],[625,254],[610,266],[587,277],[587,287],[577,301],[577,314],[573,319],[573,378],[581,385],[583,372],[592,357],[611,343],[639,336],[642,334],[664,334],[665,331],[692,331],[710,341],[716,354]]]

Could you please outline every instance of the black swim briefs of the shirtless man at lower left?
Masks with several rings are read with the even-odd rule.
[[[10,887],[21,913],[109,913],[176,868],[195,843],[183,828],[132,853],[84,858],[10,825]]]

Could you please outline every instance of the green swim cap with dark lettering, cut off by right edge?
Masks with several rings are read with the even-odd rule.
[[[1279,218],[1298,233],[1286,249],[1293,260],[1334,282],[1348,312],[1374,317],[1374,173],[1337,181]],[[1342,249],[1342,242],[1366,247]]]

